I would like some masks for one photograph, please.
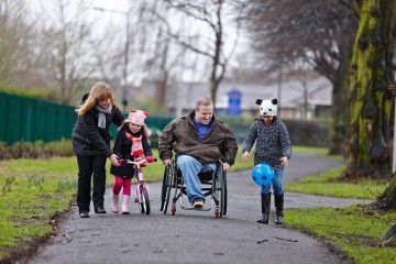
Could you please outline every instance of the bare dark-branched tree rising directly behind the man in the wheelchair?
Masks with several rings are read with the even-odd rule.
[[[228,62],[234,52],[234,47],[231,48],[229,54],[224,51],[224,42],[227,40],[226,28],[237,28],[239,30],[239,23],[237,26],[231,26],[233,22],[226,10],[229,10],[233,1],[226,0],[210,0],[210,1],[187,1],[187,0],[164,0],[166,7],[169,10],[176,10],[179,14],[187,16],[193,20],[194,23],[198,23],[206,30],[202,32],[202,28],[195,31],[195,34],[189,34],[189,31],[176,31],[173,29],[169,21],[165,21],[168,28],[168,35],[184,46],[188,51],[199,54],[211,61],[210,67],[210,96],[216,102],[217,89],[220,81],[224,77]],[[238,20],[234,20],[238,22]],[[238,40],[238,36],[237,36]],[[234,46],[237,43],[234,43]]]

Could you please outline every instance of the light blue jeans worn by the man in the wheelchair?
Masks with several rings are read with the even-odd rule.
[[[197,198],[202,199],[205,202],[205,195],[201,191],[201,184],[198,177],[198,173],[205,167],[211,167],[216,172],[216,163],[204,165],[191,156],[179,155],[177,156],[177,167],[182,172],[189,202],[193,204]]]

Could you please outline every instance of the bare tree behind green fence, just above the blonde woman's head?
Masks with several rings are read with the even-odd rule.
[[[43,30],[42,66],[46,69],[47,85],[59,90],[59,101],[70,102],[87,86],[97,72],[96,43],[92,22],[87,20],[87,1],[56,0],[42,4],[46,14]]]

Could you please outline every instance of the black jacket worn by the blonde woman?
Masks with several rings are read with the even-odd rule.
[[[124,120],[119,108],[112,108],[110,114],[106,114],[106,128],[98,127],[99,111],[95,108],[88,110],[84,116],[78,116],[77,122],[72,131],[73,150],[77,155],[106,155],[111,156],[109,129],[113,122],[120,127]]]

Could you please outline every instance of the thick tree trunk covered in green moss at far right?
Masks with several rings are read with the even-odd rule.
[[[392,40],[388,40],[386,31],[391,26],[387,15],[394,2],[362,2],[346,95],[351,113],[351,141],[350,160],[343,174],[345,177],[386,178],[391,173],[392,98],[387,89],[387,68],[392,66],[386,56]]]

